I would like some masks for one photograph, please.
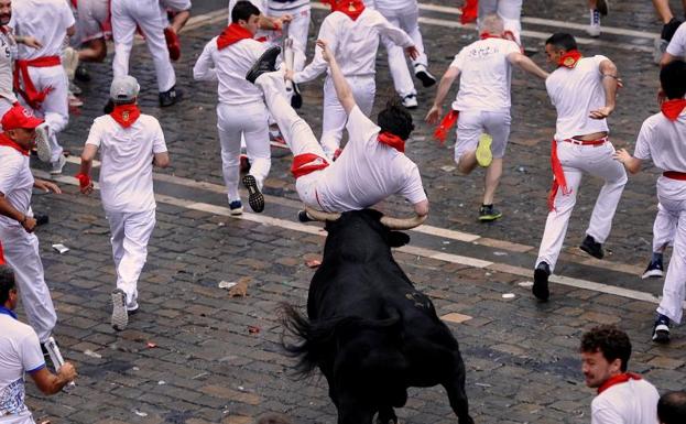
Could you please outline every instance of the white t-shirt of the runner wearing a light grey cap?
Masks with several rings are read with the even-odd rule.
[[[100,197],[107,211],[139,213],[155,208],[152,161],[166,152],[160,122],[141,115],[123,128],[109,115],[96,118],[86,144],[100,148]]]

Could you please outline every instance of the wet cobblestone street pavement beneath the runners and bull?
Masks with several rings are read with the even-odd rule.
[[[541,52],[542,37],[562,25],[573,26],[570,31],[586,42],[582,30],[574,28],[587,21],[584,4],[525,1],[524,29],[530,31],[525,45]],[[649,51],[650,34],[658,25],[647,1],[612,2],[612,7],[603,24],[634,32],[603,34],[582,44],[582,50],[606,54],[618,64],[625,88],[610,126],[616,145],[632,146],[643,119],[657,111],[657,68]],[[320,22],[324,13],[316,9],[314,15]],[[424,8],[422,15],[432,70],[439,75],[475,33],[445,26],[458,18],[449,11]],[[34,209],[51,217],[37,233],[59,316],[56,335],[80,374],[76,388],[47,399],[30,384],[29,404],[37,422],[250,423],[266,411],[286,413],[297,423],[335,422],[325,381],[295,379],[293,361],[280,349],[277,305],[306,302],[313,270],[305,262],[319,258],[324,240],[316,226],[293,222],[297,196],[287,171],[290,157],[273,161],[265,189],[273,202],[262,218],[252,214],[228,218],[226,197],[218,188],[222,181],[216,90],[194,83],[190,68],[225,19],[199,21],[183,34],[184,56],[176,70],[187,98],[177,107],[156,107],[156,94],[150,88],[155,87],[152,64],[142,46],[134,50],[132,73],[143,87],[142,107],[161,119],[173,167],[156,177],[157,226],[139,285],[141,312],[127,330],[115,333],[109,326],[109,292],[116,276],[97,195],[84,197],[74,185],[62,184],[62,196],[34,197]],[[393,96],[383,56],[380,52],[377,105]],[[543,56],[533,57],[543,64]],[[83,86],[86,106],[62,137],[74,154],[80,152],[89,123],[100,113],[111,78],[109,66],[90,69],[95,80]],[[458,176],[449,168],[454,166],[450,145],[438,146],[431,140],[432,129],[418,124],[409,155],[418,162],[429,193],[428,224],[461,232],[413,231],[414,250],[395,253],[417,287],[432,296],[439,315],[456,313],[466,319],[449,325],[465,356],[475,418],[478,423],[587,423],[594,392],[584,387],[576,349],[580,334],[598,323],[620,324],[628,330],[634,345],[630,363],[634,371],[661,391],[683,389],[686,334],[677,328],[667,347],[650,341],[655,306],[650,297],[660,293],[661,281],[642,282],[636,276],[650,254],[656,210],[654,171],[630,180],[608,240],[612,254],[607,261],[589,261],[575,248],[599,189],[597,181],[584,182],[559,273],[605,284],[607,290],[554,284],[552,302],[538,304],[530,289],[520,285],[531,280],[526,270],[545,221],[555,115],[541,83],[520,72],[513,76],[512,143],[497,200],[504,218],[489,226],[476,222],[482,175]],[[302,115],[318,132],[320,83],[304,88]],[[420,88],[422,105],[413,113],[417,120],[433,94]],[[70,163],[65,174],[75,173]],[[382,209],[409,211],[396,199]],[[465,232],[473,238],[462,237]],[[57,242],[72,250],[58,254],[51,249]],[[231,298],[217,287],[219,281],[241,278],[250,279],[248,297]],[[507,293],[514,298],[504,298]],[[636,293],[646,293],[647,302]],[[250,326],[259,331],[250,333]],[[455,422],[445,393],[436,388],[411,390],[399,415],[412,424]]]

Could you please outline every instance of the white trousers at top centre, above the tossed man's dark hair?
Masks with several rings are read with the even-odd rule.
[[[428,66],[428,59],[426,57],[426,53],[424,52],[424,40],[422,39],[422,33],[420,32],[420,7],[416,2],[405,4],[402,9],[382,9],[379,8],[378,11],[385,17],[393,25],[400,28],[405,31],[410,37],[414,41],[415,47],[420,51],[420,56],[416,59],[412,61],[413,67],[415,65],[424,65]],[[382,36],[381,41],[385,46],[385,50],[389,55],[389,68],[391,69],[391,76],[393,77],[393,85],[395,86],[395,91],[401,97],[405,97],[407,95],[416,95],[417,91],[414,88],[414,81],[412,80],[412,75],[407,69],[407,63],[405,59],[405,51],[403,47],[393,43],[389,37]]]

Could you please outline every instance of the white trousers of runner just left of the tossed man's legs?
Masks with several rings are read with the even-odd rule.
[[[264,178],[272,166],[268,121],[269,115],[262,102],[239,106],[217,105],[221,170],[229,203],[240,200],[238,180],[241,137],[246,140],[246,151],[250,157],[250,175],[254,176],[258,187],[262,189]]]

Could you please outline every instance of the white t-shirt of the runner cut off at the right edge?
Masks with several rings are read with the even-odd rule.
[[[662,112],[643,121],[633,155],[652,160],[662,171],[686,172],[686,113],[676,121]]]

